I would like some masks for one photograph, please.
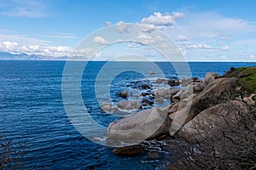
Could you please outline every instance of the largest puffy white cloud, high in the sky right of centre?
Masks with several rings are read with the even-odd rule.
[[[185,15],[183,13],[178,12],[173,12],[172,14],[161,14],[160,12],[155,12],[147,18],[143,18],[141,23],[157,27],[169,27],[176,26],[176,21],[183,17],[185,17]]]

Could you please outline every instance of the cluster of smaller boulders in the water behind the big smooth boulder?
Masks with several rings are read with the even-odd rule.
[[[198,93],[205,87],[205,82],[198,78],[190,78],[183,80],[172,80],[157,78],[156,84],[166,84],[170,88],[152,88],[148,84],[142,84],[140,95],[132,96],[127,90],[123,90],[118,94],[122,98],[117,105],[111,103],[102,103],[102,111],[122,111],[122,110],[139,110],[143,107],[153,106],[154,103],[162,104],[165,100],[178,102],[187,98],[190,94]],[[129,96],[128,96],[129,95]],[[128,100],[128,97],[134,97],[140,100]],[[140,98],[143,97],[143,98]]]

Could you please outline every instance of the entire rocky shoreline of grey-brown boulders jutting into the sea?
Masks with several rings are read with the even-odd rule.
[[[246,77],[251,81],[250,86],[245,81]],[[224,76],[208,72],[204,80],[158,78],[155,83],[169,84],[171,88],[152,90],[144,85],[142,88],[148,91],[141,95],[148,96],[149,99],[144,99],[141,103],[128,101],[126,98],[129,94],[123,91],[119,96],[124,99],[119,101],[118,108],[105,103],[102,104],[102,110],[139,110],[145,105],[168,99],[170,105],[137,111],[110,123],[108,144],[116,146],[113,150],[116,155],[134,156],[143,152],[142,143],[148,139],[172,140],[175,137],[189,143],[199,143],[219,130],[224,131],[225,125],[240,122],[243,115],[255,108],[256,81],[252,82],[255,77],[256,67],[248,67],[231,68]],[[183,88],[177,88],[178,85]],[[252,126],[255,130],[256,123],[253,121]],[[223,133],[219,133],[219,137],[222,135]]]

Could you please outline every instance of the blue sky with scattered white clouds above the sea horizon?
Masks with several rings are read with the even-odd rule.
[[[163,31],[187,60],[256,61],[255,6],[254,0],[0,0],[0,52],[57,59],[92,32],[135,23]],[[95,40],[108,42],[101,38]],[[115,44],[98,54],[104,60],[121,50],[136,53],[135,46],[147,51]]]

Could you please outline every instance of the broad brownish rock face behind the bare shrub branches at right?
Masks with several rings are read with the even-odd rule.
[[[241,114],[248,112],[247,105],[241,101],[233,100],[226,104],[215,105],[201,111],[193,120],[185,124],[177,135],[189,142],[202,141],[218,131],[221,136],[227,124],[240,121]]]

